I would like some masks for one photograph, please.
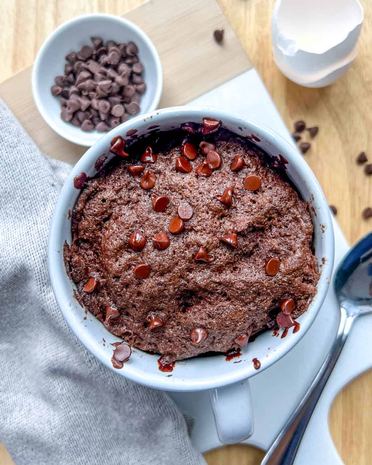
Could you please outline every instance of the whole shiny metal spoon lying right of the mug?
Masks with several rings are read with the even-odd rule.
[[[336,339],[317,376],[267,451],[261,465],[292,465],[312,412],[339,358],[352,324],[372,312],[372,232],[350,249],[334,274],[341,321]]]

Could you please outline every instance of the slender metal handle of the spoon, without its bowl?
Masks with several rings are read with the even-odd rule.
[[[306,391],[304,398],[290,418],[286,421],[282,431],[266,452],[261,465],[292,465],[299,448],[299,444],[306,430],[306,426],[312,416],[319,397],[332,373],[334,365],[339,358],[345,344],[355,316],[347,316],[341,307],[341,320],[336,339],[328,352],[318,374]]]

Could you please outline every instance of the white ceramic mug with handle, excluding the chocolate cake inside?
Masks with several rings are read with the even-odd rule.
[[[125,136],[129,129],[137,129],[138,135],[147,133],[149,126],[157,125],[160,130],[179,127],[182,123],[193,121],[201,123],[209,116],[222,121],[223,127],[239,136],[255,136],[255,144],[269,155],[284,155],[288,160],[287,173],[300,195],[311,205],[314,225],[314,248],[319,263],[320,279],[317,293],[307,312],[297,320],[299,332],[290,331],[285,339],[272,337],[272,331],[260,334],[256,340],[242,349],[239,359],[226,361],[225,356],[216,354],[211,357],[196,357],[176,362],[172,376],[160,372],[158,356],[153,356],[133,347],[132,356],[120,370],[113,368],[113,342],[121,339],[108,332],[93,315],[85,316],[84,309],[73,298],[76,286],[66,274],[63,263],[63,244],[71,243],[72,211],[80,191],[73,187],[73,178],[84,172],[89,177],[97,174],[95,161],[109,153],[110,140],[116,135]],[[174,107],[140,115],[114,128],[104,135],[82,156],[73,167],[54,209],[48,243],[48,266],[55,298],[67,323],[86,346],[103,364],[121,376],[125,376],[142,385],[168,391],[209,390],[216,420],[219,439],[224,444],[232,444],[249,437],[253,432],[252,402],[248,379],[265,370],[283,357],[296,345],[311,326],[326,296],[333,267],[333,229],[329,208],[317,179],[309,166],[286,140],[265,126],[237,115],[207,107]],[[321,265],[321,266],[320,266]],[[102,338],[106,344],[102,344]],[[259,370],[254,368],[252,359],[261,363]],[[239,361],[240,363],[233,363]],[[274,380],[273,380],[274,381]]]

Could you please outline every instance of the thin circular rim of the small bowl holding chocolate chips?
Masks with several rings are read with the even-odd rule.
[[[54,120],[52,116],[44,110],[44,106],[41,103],[41,98],[40,94],[38,91],[38,86],[36,82],[36,76],[40,71],[40,66],[41,66],[41,61],[44,55],[44,52],[47,47],[50,46],[50,44],[53,42],[54,38],[58,36],[60,33],[64,33],[66,29],[74,25],[75,23],[80,22],[81,20],[88,20],[88,19],[100,19],[100,18],[105,18],[108,20],[116,21],[118,23],[121,23],[124,27],[128,29],[132,29],[135,31],[138,35],[140,35],[143,40],[146,42],[149,50],[151,51],[154,60],[155,60],[155,66],[157,68],[157,72],[159,75],[159,82],[156,86],[156,93],[155,97],[153,99],[152,104],[150,105],[148,112],[151,112],[155,110],[158,105],[159,101],[161,98],[161,93],[163,92],[163,68],[161,66],[161,61],[159,57],[159,53],[156,50],[155,46],[153,45],[153,42],[150,40],[148,35],[137,25],[135,25],[132,21],[129,21],[125,18],[122,18],[120,16],[115,16],[113,14],[104,14],[104,13],[94,13],[94,14],[83,14],[80,16],[77,16],[73,20],[66,21],[65,23],[61,24],[59,27],[57,27],[53,33],[51,33],[43,45],[40,47],[40,50],[38,54],[36,55],[36,60],[33,64],[33,70],[32,70],[32,76],[31,76],[31,88],[32,88],[32,93],[33,93],[33,99],[35,101],[35,105],[37,109],[39,110],[39,113],[43,120],[46,122],[46,124],[53,129],[54,132],[59,134],[61,137],[63,137],[66,140],[69,140],[70,142],[73,142],[74,144],[84,146],[84,147],[89,147],[90,145],[87,145],[86,143],[82,143],[79,137],[74,137],[71,135],[68,131],[63,130],[62,128],[58,127],[56,124],[54,124]],[[148,113],[147,112],[147,113]],[[143,117],[145,113],[140,113],[138,116]],[[134,118],[131,118],[129,121],[133,121]],[[101,137],[104,137],[105,133],[102,133]],[[101,137],[97,137],[97,140],[99,140]]]

